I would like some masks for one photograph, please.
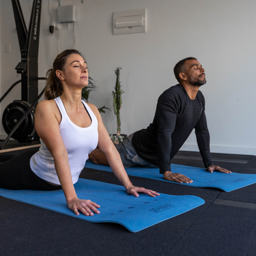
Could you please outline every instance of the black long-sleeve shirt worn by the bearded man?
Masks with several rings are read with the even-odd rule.
[[[205,117],[205,100],[198,91],[191,100],[182,85],[170,87],[158,98],[153,123],[134,132],[132,145],[137,154],[160,173],[171,171],[171,159],[177,154],[193,128],[205,167],[212,165],[210,134]]]

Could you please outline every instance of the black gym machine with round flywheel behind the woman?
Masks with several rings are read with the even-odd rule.
[[[23,17],[19,0],[12,0],[12,8],[18,42],[20,46],[21,61],[16,66],[16,72],[21,74],[21,79],[16,81],[5,94],[0,98],[0,102],[10,91],[21,82],[21,100],[14,100],[8,104],[3,111],[2,123],[8,137],[1,144],[1,150],[12,137],[18,142],[38,141],[38,134],[35,132],[35,106],[44,94],[44,89],[38,96],[38,80],[46,79],[38,77],[38,47],[40,35],[42,0],[33,0],[29,31]]]

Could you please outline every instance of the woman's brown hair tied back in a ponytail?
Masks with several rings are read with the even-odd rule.
[[[44,98],[46,100],[53,100],[63,94],[63,86],[59,78],[56,76],[56,70],[63,71],[68,57],[72,54],[79,54],[81,57],[83,57],[83,55],[81,55],[81,53],[75,49],[65,50],[57,55],[53,61],[53,68],[50,68],[46,72],[47,79],[46,89],[44,92]],[[83,57],[83,59],[85,58]]]

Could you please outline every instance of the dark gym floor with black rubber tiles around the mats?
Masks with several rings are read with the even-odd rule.
[[[212,154],[215,165],[256,174],[256,156]],[[197,152],[173,163],[203,167]],[[119,184],[113,173],[83,169],[81,178]],[[255,255],[256,184],[230,193],[130,176],[133,184],[169,195],[196,195],[199,208],[131,233],[0,197],[0,255]]]

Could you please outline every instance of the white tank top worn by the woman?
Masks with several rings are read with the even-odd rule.
[[[70,164],[72,182],[74,184],[79,179],[79,175],[85,167],[88,154],[90,154],[92,150],[95,150],[98,145],[98,120],[89,106],[82,100],[91,118],[91,125],[87,128],[76,126],[68,117],[68,113],[66,112],[61,98],[55,98],[55,102],[61,113],[59,131],[63,143],[66,146],[66,150],[68,151],[68,162]],[[31,170],[41,179],[60,185],[53,156],[48,151],[44,141],[40,139],[40,142],[41,147],[39,151],[30,159]]]

